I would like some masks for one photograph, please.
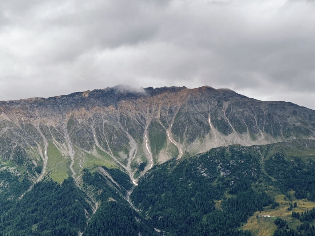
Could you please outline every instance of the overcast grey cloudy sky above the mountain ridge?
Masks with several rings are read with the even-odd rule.
[[[315,109],[315,2],[0,0],[0,100],[117,84]]]

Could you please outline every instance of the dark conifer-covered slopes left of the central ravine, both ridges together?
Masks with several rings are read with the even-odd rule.
[[[125,180],[121,171],[112,171],[115,179],[130,189],[130,179]],[[123,195],[126,192],[100,172],[86,171],[82,190],[71,177],[61,185],[50,179],[36,183],[21,200],[2,205],[0,235],[156,235],[130,206]]]

